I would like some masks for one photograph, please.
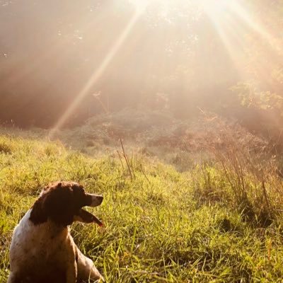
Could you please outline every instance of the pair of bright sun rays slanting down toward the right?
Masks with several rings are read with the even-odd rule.
[[[279,50],[275,37],[239,0],[202,0],[204,13],[212,21],[226,52],[229,54],[238,74],[245,76],[243,62],[245,58],[246,33],[252,31],[268,42],[274,52]]]

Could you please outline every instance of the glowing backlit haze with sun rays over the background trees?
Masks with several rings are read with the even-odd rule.
[[[129,106],[180,116],[219,108],[219,101],[224,107],[241,81],[276,91],[278,4],[2,0],[1,121],[52,127],[53,134]]]

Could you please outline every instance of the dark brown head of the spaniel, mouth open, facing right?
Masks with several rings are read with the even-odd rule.
[[[102,201],[102,196],[86,193],[78,183],[55,183],[40,193],[30,212],[30,221],[42,224],[50,219],[60,226],[67,226],[73,221],[97,222],[96,216],[82,207],[97,207]]]

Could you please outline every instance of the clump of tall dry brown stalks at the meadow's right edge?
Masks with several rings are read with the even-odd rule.
[[[212,162],[197,168],[197,176],[201,174],[202,178],[195,178],[195,193],[204,200],[234,207],[253,224],[272,224],[283,211],[283,181],[277,159],[268,148],[239,142],[225,126],[221,139],[221,148],[207,146]]]

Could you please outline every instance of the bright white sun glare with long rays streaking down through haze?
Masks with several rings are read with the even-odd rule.
[[[117,54],[117,51],[120,50],[122,46],[125,46],[125,41],[129,33],[134,33],[135,23],[139,20],[140,16],[150,10],[155,11],[151,21],[156,21],[158,13],[161,14],[163,20],[167,18],[168,14],[173,15],[175,19],[177,18],[175,22],[178,29],[175,28],[175,33],[169,33],[166,28],[163,29],[164,37],[172,37],[170,38],[171,41],[178,41],[178,34],[181,34],[183,30],[185,30],[183,28],[184,25],[187,24],[185,21],[179,21],[178,17],[192,18],[193,21],[198,21],[196,20],[196,15],[198,11],[201,11],[202,15],[206,15],[214,26],[214,30],[218,33],[227,54],[231,57],[232,62],[235,62],[236,68],[238,68],[238,62],[241,61],[239,60],[239,56],[241,56],[239,54],[244,50],[243,34],[245,29],[253,30],[255,33],[264,37],[265,40],[271,41],[272,39],[271,35],[262,28],[260,21],[256,21],[256,19],[250,15],[250,12],[246,10],[244,2],[241,0],[128,0],[128,3],[135,8],[132,18],[129,19],[125,29],[120,36],[117,37],[115,44],[110,47],[109,52],[105,53],[100,67],[93,71],[93,76],[86,81],[85,86],[82,88],[81,92],[78,93],[74,102],[71,103],[57,122],[57,125],[54,126],[54,129],[52,129],[50,133],[51,137],[54,136],[57,129],[60,129],[62,125],[64,125],[64,122],[66,122],[71,113],[74,112],[76,106],[81,102],[83,97],[86,96],[88,91],[90,91],[93,83],[96,83],[103,75],[105,69],[108,68],[112,59]],[[151,7],[154,7],[154,9],[150,9]],[[187,7],[189,8],[186,10]],[[168,19],[170,20],[170,18]],[[164,25],[164,27],[166,27],[166,25]],[[193,33],[194,30],[191,32]],[[187,34],[187,37],[190,37],[190,35]],[[239,50],[241,51],[239,52]]]

